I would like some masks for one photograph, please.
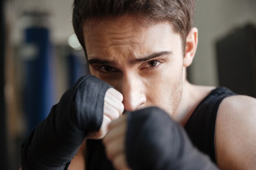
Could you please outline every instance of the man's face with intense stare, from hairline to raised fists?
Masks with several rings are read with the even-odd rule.
[[[172,115],[182,95],[180,36],[168,22],[139,22],[126,15],[85,25],[90,72],[122,93],[125,110],[158,106]]]

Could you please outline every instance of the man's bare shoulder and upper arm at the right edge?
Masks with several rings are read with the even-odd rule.
[[[216,119],[216,158],[224,170],[256,169],[256,99],[225,98]]]

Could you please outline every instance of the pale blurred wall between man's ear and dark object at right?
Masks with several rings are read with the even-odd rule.
[[[248,22],[256,25],[256,0],[197,1],[194,26],[199,30],[199,42],[190,69],[192,83],[218,86],[215,42]]]

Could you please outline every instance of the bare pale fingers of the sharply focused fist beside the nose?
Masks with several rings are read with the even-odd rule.
[[[124,112],[122,101],[123,95],[119,91],[115,90],[115,88],[108,89],[104,97],[103,121],[101,128],[97,132],[88,132],[86,138],[102,139],[106,135],[110,122],[118,119]]]

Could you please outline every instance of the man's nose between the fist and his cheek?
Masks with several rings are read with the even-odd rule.
[[[146,103],[145,87],[139,77],[124,75],[120,85],[125,110],[134,111]]]

